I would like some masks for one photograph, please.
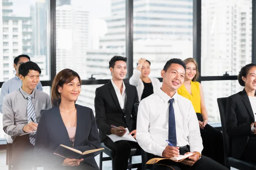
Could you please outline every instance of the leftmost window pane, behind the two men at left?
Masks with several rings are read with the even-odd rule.
[[[4,14],[9,17],[3,17],[1,35],[3,42],[1,43],[3,47],[8,46],[10,53],[7,55],[4,53],[4,56],[12,58],[19,54],[29,55],[33,62],[40,63],[38,65],[43,70],[41,80],[49,80],[50,0],[26,0],[25,3],[21,3],[20,0],[9,0],[7,2],[12,3],[3,3],[3,9],[12,10]],[[20,7],[21,4],[22,7]],[[0,60],[0,63],[3,63],[3,60]],[[13,68],[9,68],[8,71],[12,72]],[[13,75],[10,75],[8,79],[12,77]],[[3,80],[0,76],[0,82]]]

